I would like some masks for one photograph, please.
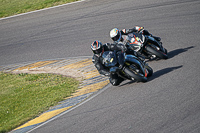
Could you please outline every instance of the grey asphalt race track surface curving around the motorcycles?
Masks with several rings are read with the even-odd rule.
[[[147,83],[123,82],[31,132],[200,132],[200,1],[86,0],[0,21],[0,65],[92,56],[113,27],[144,26],[169,59]]]

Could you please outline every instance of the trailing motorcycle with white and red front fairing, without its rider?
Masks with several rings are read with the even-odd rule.
[[[146,36],[141,33],[130,33],[125,37],[126,45],[132,50],[140,53],[147,59],[167,59],[167,50],[162,46],[162,42],[153,44],[150,42],[155,41],[151,36]]]

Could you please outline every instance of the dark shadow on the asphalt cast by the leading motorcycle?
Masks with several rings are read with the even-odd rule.
[[[148,81],[147,81],[147,82],[152,81],[152,80],[154,80],[154,79],[156,79],[156,78],[159,78],[160,76],[165,75],[165,74],[167,74],[167,73],[170,73],[170,72],[172,72],[172,71],[174,71],[174,70],[176,70],[176,69],[179,69],[179,68],[181,68],[181,67],[183,67],[183,65],[181,65],[181,66],[176,66],[176,67],[164,68],[164,69],[162,69],[162,70],[156,71],[156,72],[153,73],[153,75],[152,75],[151,77],[148,78]],[[118,85],[118,87],[125,86],[125,85],[129,85],[129,84],[133,84],[133,83],[137,83],[137,81],[128,81],[128,82],[126,82],[126,83],[123,83],[123,84],[121,84],[121,85]]]

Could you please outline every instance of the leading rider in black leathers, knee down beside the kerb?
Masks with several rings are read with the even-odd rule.
[[[122,81],[124,81],[124,79],[119,77],[118,74],[110,73],[109,68],[107,68],[104,65],[103,57],[102,57],[104,51],[116,51],[118,59],[119,59],[119,64],[120,64],[119,68],[122,68],[123,65],[120,62],[122,62],[121,60],[123,57],[123,52],[126,51],[126,47],[123,44],[120,44],[120,43],[118,43],[118,44],[110,44],[110,43],[102,44],[100,41],[94,41],[91,44],[91,50],[94,53],[92,62],[94,63],[95,67],[97,68],[97,70],[100,74],[108,76],[109,81],[113,86],[117,86]]]

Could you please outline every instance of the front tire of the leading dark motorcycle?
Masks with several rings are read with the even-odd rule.
[[[147,78],[145,77],[145,75],[141,73],[131,71],[127,67],[124,68],[124,72],[128,74],[129,76],[131,76],[132,78],[134,78],[135,80],[137,80],[138,82],[147,82]]]

